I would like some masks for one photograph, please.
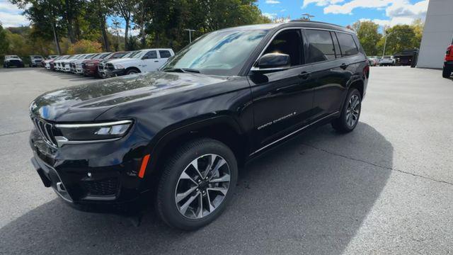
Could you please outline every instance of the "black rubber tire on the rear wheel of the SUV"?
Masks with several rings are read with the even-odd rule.
[[[355,118],[355,121],[352,125],[350,125],[350,122],[348,121],[348,110],[350,108],[350,100],[353,96],[357,96],[359,102],[358,102],[358,114],[357,118]],[[357,89],[350,89],[348,92],[348,96],[346,96],[346,100],[343,103],[343,108],[341,109],[341,114],[340,117],[336,118],[335,120],[332,121],[332,127],[335,129],[337,132],[340,133],[346,133],[346,132],[351,132],[352,130],[355,129],[357,124],[359,123],[359,118],[360,118],[360,112],[362,109],[362,95],[360,94],[360,91]],[[352,115],[352,113],[350,113]],[[353,118],[350,116],[350,118]]]

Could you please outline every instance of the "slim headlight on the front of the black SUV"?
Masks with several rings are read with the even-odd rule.
[[[132,120],[120,120],[110,123],[56,124],[58,146],[91,142],[109,142],[119,140],[127,134]]]

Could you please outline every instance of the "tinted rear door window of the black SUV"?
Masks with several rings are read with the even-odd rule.
[[[325,30],[306,30],[305,34],[309,42],[309,63],[335,59],[331,32]]]

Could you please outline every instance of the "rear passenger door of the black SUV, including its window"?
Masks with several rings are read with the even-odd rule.
[[[314,120],[340,110],[343,94],[350,79],[350,60],[341,55],[336,33],[329,30],[304,30],[308,42],[306,62],[310,63],[316,80],[314,87]]]

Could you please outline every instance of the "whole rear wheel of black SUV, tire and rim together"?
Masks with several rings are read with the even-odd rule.
[[[361,108],[362,95],[357,89],[350,89],[340,117],[332,121],[332,127],[338,132],[351,132],[359,123]]]

